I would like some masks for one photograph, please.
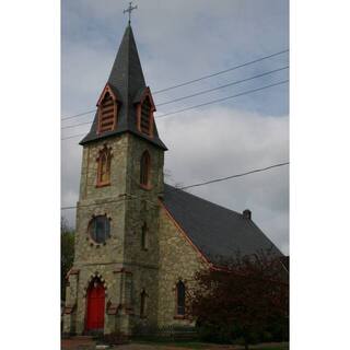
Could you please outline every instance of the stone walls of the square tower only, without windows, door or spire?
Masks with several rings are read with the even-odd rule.
[[[98,151],[112,148],[110,185],[96,187]],[[151,186],[139,185],[140,159],[144,150],[151,155]],[[139,324],[156,324],[159,269],[159,192],[163,190],[163,150],[125,133],[84,147],[80,200],[77,210],[77,236],[73,270],[69,277],[66,306],[74,311],[65,315],[65,332],[82,334],[85,325],[86,289],[94,276],[106,287],[104,332],[129,334]],[[93,215],[110,219],[110,237],[96,244],[89,234]],[[147,223],[148,245],[141,246],[141,229]],[[147,292],[145,317],[140,317],[140,295]],[[117,308],[109,313],[108,305]]]

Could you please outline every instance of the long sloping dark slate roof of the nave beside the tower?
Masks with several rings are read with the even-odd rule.
[[[163,203],[194,245],[212,262],[221,258],[271,249],[283,254],[253,222],[243,214],[220,207],[170,185],[164,185]]]

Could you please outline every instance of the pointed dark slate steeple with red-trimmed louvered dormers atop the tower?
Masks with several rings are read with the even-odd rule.
[[[109,121],[109,119],[102,121],[107,126],[113,126],[107,130],[106,128],[100,128],[102,102],[106,93],[112,95],[116,106],[114,108],[115,119],[113,121]],[[109,105],[108,102],[107,106],[109,107]],[[159,138],[153,112],[155,112],[155,106],[151,91],[145,85],[137,45],[129,23],[125,30],[106,86],[97,102],[97,112],[91,130],[80,144],[129,131],[166,150],[165,144]],[[144,118],[145,113],[149,113],[149,120]],[[147,129],[148,122],[149,129]],[[145,129],[148,131],[144,131]]]

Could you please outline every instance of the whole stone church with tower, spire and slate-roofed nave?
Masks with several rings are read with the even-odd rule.
[[[194,273],[235,252],[279,249],[237,213],[164,184],[166,145],[153,118],[130,24],[83,147],[73,267],[63,332],[132,334],[189,325]]]

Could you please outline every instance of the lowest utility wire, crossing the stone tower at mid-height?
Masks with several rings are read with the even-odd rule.
[[[211,179],[211,180],[208,180],[208,182],[198,183],[198,184],[194,184],[194,185],[176,187],[176,188],[174,188],[174,191],[182,190],[182,189],[188,189],[188,188],[192,188],[192,187],[210,185],[210,184],[213,184],[213,183],[225,182],[228,179],[232,179],[232,178],[236,178],[236,177],[243,177],[243,176],[255,174],[255,173],[266,172],[268,170],[271,170],[271,168],[275,168],[275,167],[279,167],[279,166],[284,166],[284,165],[288,165],[288,164],[289,164],[289,162],[273,164],[273,165],[270,165],[270,166],[267,166],[267,167],[256,168],[256,170],[253,170],[253,171],[249,171],[249,172],[246,172],[246,173],[230,175],[230,176],[226,176],[226,177],[219,177],[219,178],[214,178],[214,179]],[[161,195],[161,194],[159,194],[159,195]],[[125,195],[125,196],[126,196],[126,198],[122,198],[122,199],[108,200],[108,201],[105,201],[103,203],[81,205],[81,206],[79,206],[79,208],[92,207],[92,206],[95,206],[95,207],[97,206],[98,207],[98,206],[113,203],[113,202],[121,202],[121,201],[125,201],[125,200],[135,200],[135,199],[145,200],[144,198],[138,197],[136,195]],[[127,198],[127,197],[133,197],[133,198]],[[149,200],[145,200],[145,201],[149,201]],[[152,205],[154,205],[154,203],[152,203]],[[61,207],[61,210],[75,209],[75,208],[78,208],[78,207],[77,206]]]

